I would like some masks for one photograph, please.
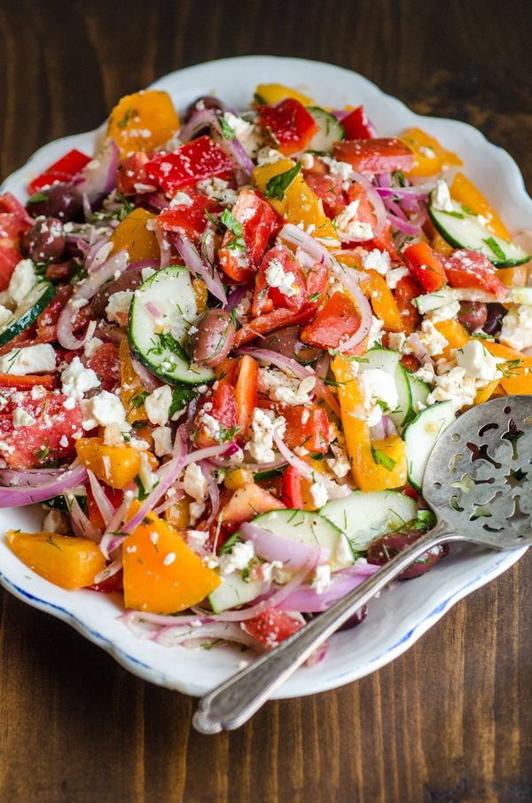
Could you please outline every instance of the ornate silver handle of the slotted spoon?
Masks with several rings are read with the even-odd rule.
[[[356,610],[420,555],[451,540],[463,540],[463,537],[451,532],[443,522],[426,532],[350,594],[334,602],[325,613],[203,697],[193,717],[194,727],[205,734],[218,733],[223,728],[239,728]]]

